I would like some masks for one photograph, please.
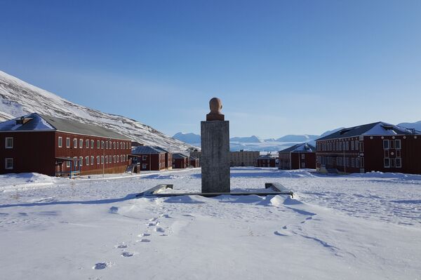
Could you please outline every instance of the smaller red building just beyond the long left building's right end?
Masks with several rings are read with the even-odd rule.
[[[161,148],[152,146],[133,147],[130,156],[132,164],[140,164],[141,171],[160,171],[168,168],[166,152]]]

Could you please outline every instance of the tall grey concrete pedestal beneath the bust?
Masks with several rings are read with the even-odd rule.
[[[202,192],[229,192],[229,121],[201,121]]]

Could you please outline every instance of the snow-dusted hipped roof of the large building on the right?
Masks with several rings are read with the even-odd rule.
[[[377,121],[373,124],[363,124],[361,126],[353,126],[350,128],[342,128],[340,131],[336,131],[322,138],[316,139],[329,140],[336,138],[349,138],[360,135],[398,135],[398,134],[421,134],[421,131],[415,129],[404,128],[403,126],[395,126],[393,124],[387,124],[382,121]]]

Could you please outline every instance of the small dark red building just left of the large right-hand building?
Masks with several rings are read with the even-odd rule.
[[[279,151],[279,169],[316,168],[316,147],[309,143]]]

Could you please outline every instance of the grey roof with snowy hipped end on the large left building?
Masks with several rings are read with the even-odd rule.
[[[18,124],[18,122],[22,120],[24,120],[22,124]],[[130,138],[108,128],[103,128],[102,126],[82,124],[78,121],[37,113],[27,114],[4,121],[0,123],[0,131],[62,131],[112,139],[130,140]]]

